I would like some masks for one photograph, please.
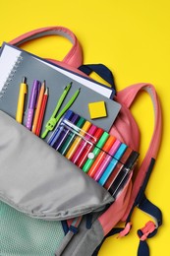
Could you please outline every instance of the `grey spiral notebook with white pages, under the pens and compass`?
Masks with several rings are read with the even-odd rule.
[[[81,93],[71,109],[84,116],[85,119],[90,120],[88,103],[105,102],[107,116],[90,120],[98,127],[109,131],[120,111],[121,105],[109,98],[114,94],[113,90],[4,42],[0,52],[0,110],[13,118],[16,116],[20,84],[23,77],[27,77],[28,96],[34,79],[41,82],[45,80],[46,86],[49,88],[43,128],[64,88],[71,82],[70,96],[73,96],[81,88]],[[26,123],[27,110],[28,108],[24,116],[24,124]]]

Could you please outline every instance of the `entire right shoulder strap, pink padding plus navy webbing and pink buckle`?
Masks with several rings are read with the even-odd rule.
[[[138,250],[138,256],[148,256],[149,248],[146,243],[146,238],[150,238],[156,234],[158,226],[162,224],[162,214],[161,211],[148,201],[144,195],[144,190],[147,185],[149,176],[151,174],[152,168],[154,166],[160,141],[161,141],[161,132],[162,132],[162,116],[161,116],[161,107],[158,96],[154,90],[154,87],[150,84],[138,84],[131,86],[120,92],[119,96],[121,100],[125,103],[127,107],[130,107],[141,91],[145,91],[149,94],[152,99],[153,108],[154,108],[154,130],[152,138],[148,147],[148,150],[145,154],[142,164],[139,168],[137,177],[134,181],[134,186],[132,190],[132,197],[130,200],[129,207],[123,218],[127,223],[130,222],[131,215],[135,206],[138,206],[143,212],[147,213],[150,217],[153,218],[154,222],[148,222],[141,229],[138,230],[138,235],[140,237],[140,246]]]

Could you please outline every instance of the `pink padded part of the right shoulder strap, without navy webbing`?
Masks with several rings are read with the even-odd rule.
[[[136,197],[139,194],[140,188],[144,181],[144,178],[151,160],[153,159],[155,160],[157,157],[160,141],[161,141],[161,133],[162,133],[161,107],[160,107],[160,102],[154,87],[150,84],[144,84],[144,83],[133,85],[123,90],[122,92],[120,92],[119,97],[123,102],[125,102],[127,107],[130,107],[133,101],[135,100],[136,96],[142,90],[146,91],[152,99],[153,108],[154,108],[154,130],[153,130],[153,134],[152,134],[152,138],[151,138],[148,150],[145,154],[144,159],[142,160],[142,164],[139,168],[138,175],[134,182],[131,201],[130,201],[126,216],[124,216],[123,218],[124,220],[128,218],[128,215],[133,207]]]

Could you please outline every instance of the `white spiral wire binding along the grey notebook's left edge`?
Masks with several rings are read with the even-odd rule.
[[[17,69],[18,69],[19,65],[21,64],[22,60],[23,60],[22,56],[18,56],[17,57],[17,60],[14,63],[14,66],[13,66],[9,76],[7,77],[7,80],[6,80],[2,90],[0,92],[0,99],[5,95],[5,93],[6,93],[7,89],[8,89],[8,86],[10,85],[11,81],[13,80],[13,78],[15,76],[15,73],[17,72]]]

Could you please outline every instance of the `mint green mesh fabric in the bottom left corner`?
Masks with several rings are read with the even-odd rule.
[[[61,222],[30,218],[0,201],[0,256],[54,256],[63,237]]]

